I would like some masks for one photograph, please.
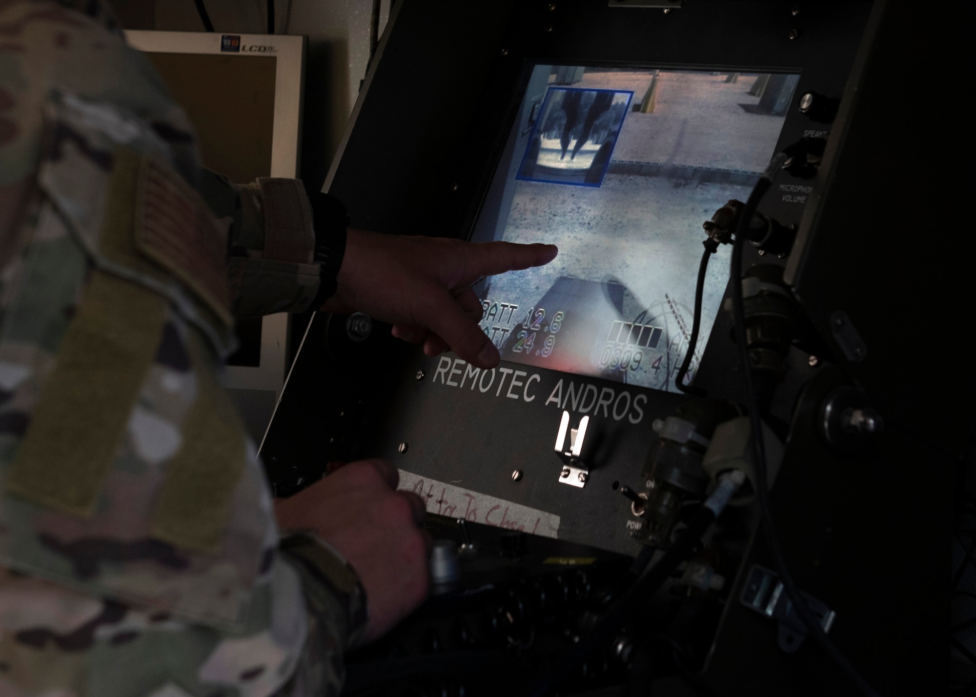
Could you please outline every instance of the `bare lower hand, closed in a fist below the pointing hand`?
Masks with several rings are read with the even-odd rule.
[[[361,460],[274,502],[282,530],[313,530],[359,574],[369,603],[367,640],[417,607],[430,583],[430,537],[420,528],[424,502],[396,491],[398,478],[382,460]]]

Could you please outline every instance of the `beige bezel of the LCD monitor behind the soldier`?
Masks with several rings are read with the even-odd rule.
[[[221,51],[222,37],[240,37],[240,52]],[[271,177],[295,178],[299,174],[302,138],[302,101],[305,73],[305,37],[232,32],[126,30],[126,41],[135,49],[152,53],[217,54],[240,58],[274,56],[274,120],[271,134]],[[224,387],[238,390],[274,390],[277,403],[285,381],[288,349],[286,312],[264,317],[261,362],[255,367],[231,365],[224,371]]]

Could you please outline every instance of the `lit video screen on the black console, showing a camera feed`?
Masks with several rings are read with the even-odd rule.
[[[536,65],[471,240],[558,245],[474,286],[502,359],[676,391],[702,224],[746,200],[798,75]],[[712,257],[688,382],[731,250]]]

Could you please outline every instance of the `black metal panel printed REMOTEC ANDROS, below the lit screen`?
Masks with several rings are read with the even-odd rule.
[[[636,554],[639,546],[630,539],[629,525],[637,518],[617,489],[640,484],[640,468],[655,437],[651,423],[666,418],[686,397],[508,362],[462,384],[466,367],[450,353],[410,361],[378,454],[434,482],[558,514],[560,539]],[[424,380],[416,379],[418,369]],[[590,478],[582,488],[560,481],[563,463],[553,450],[562,415],[558,402],[567,401],[570,386],[577,405],[574,410],[566,404],[572,428],[590,416],[584,452]],[[400,443],[408,444],[406,452],[398,452]],[[522,472],[518,481],[512,478],[515,470]],[[428,483],[417,493],[431,499],[439,488]],[[438,511],[475,519],[464,506]],[[478,512],[476,521],[502,524],[504,511],[490,518],[486,513]]]

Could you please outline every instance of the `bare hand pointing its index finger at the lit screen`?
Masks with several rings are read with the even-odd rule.
[[[362,311],[393,325],[393,336],[424,344],[427,355],[454,350],[491,368],[498,349],[478,327],[481,301],[471,284],[481,276],[549,264],[551,244],[470,243],[349,229],[339,289],[322,309]]]

